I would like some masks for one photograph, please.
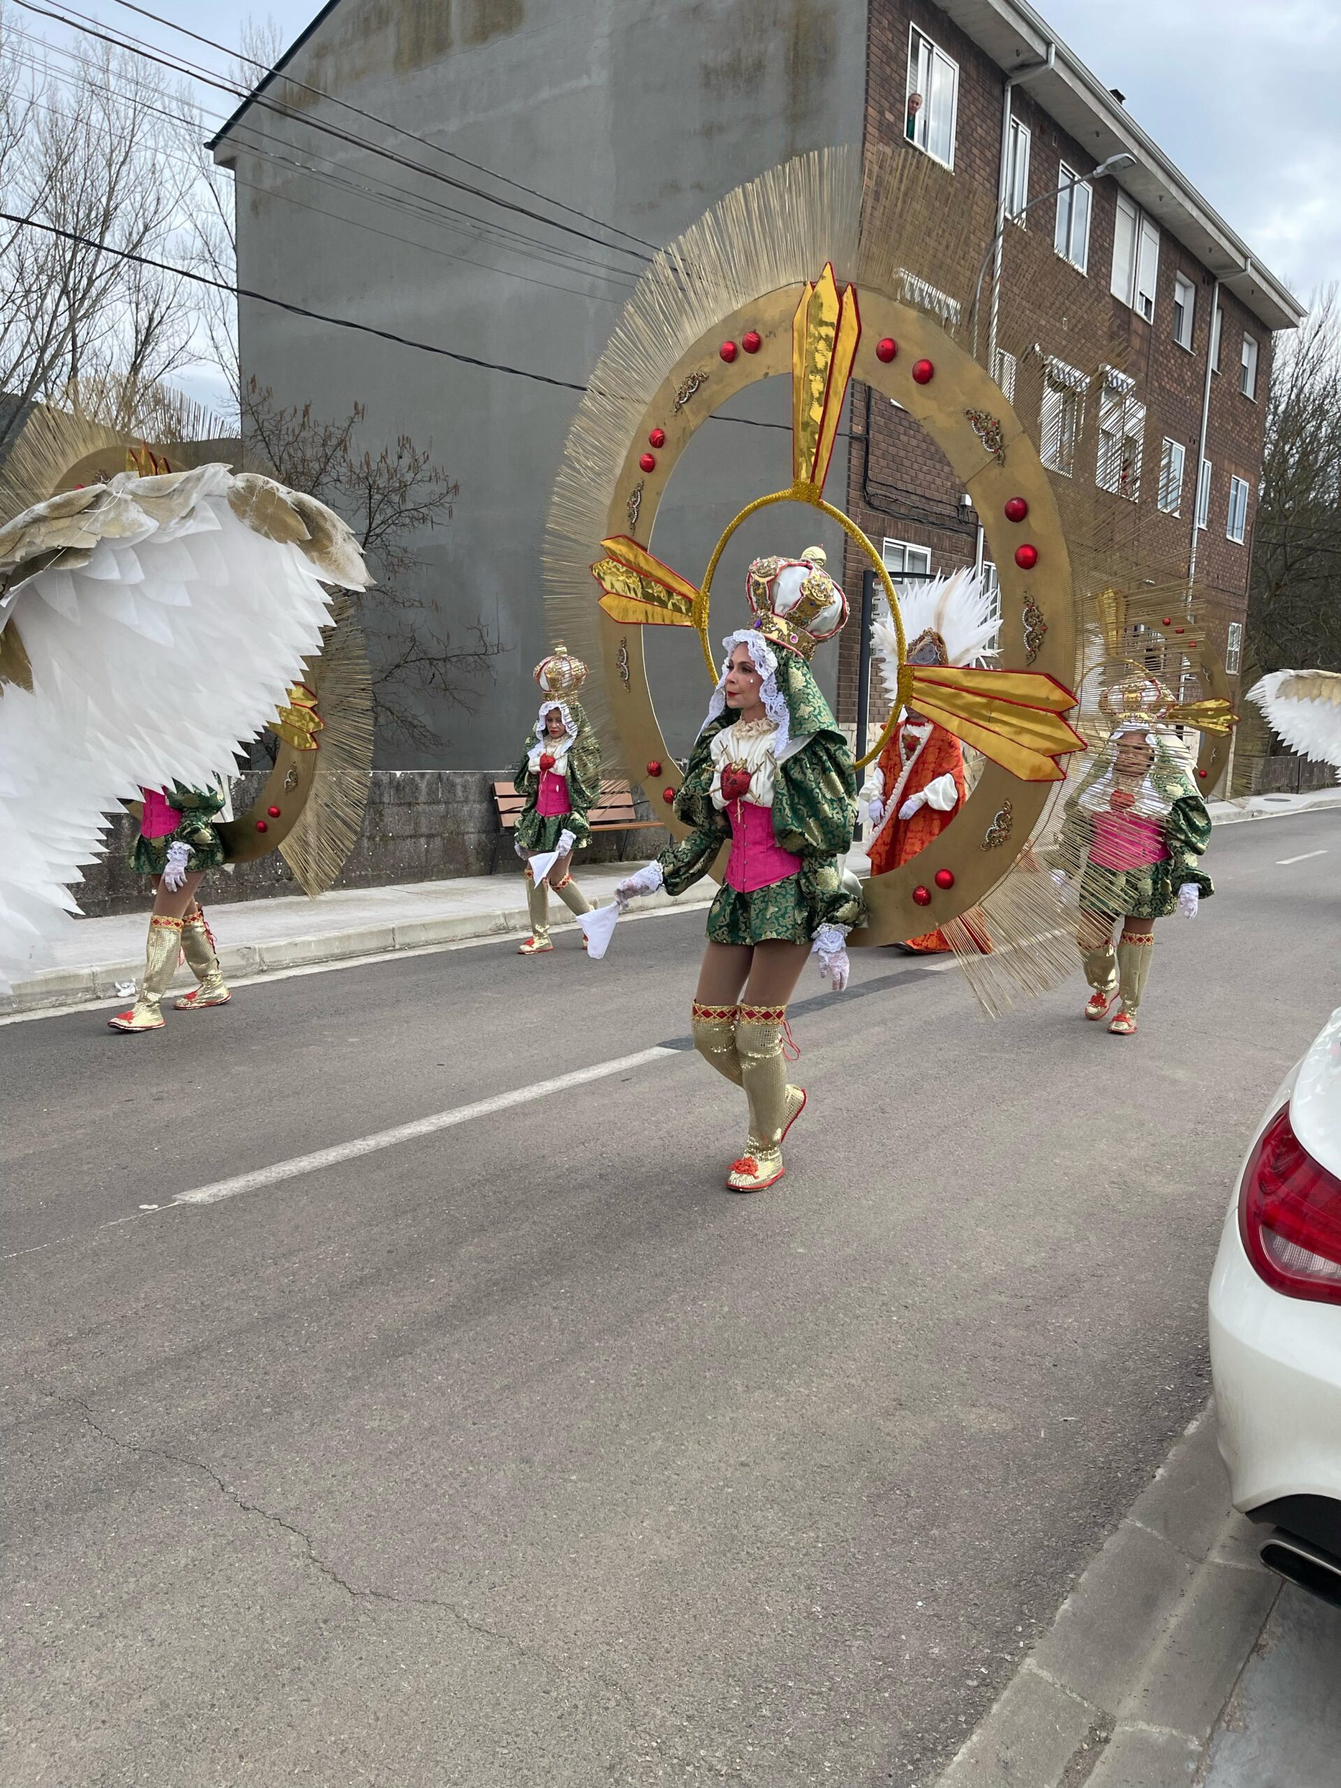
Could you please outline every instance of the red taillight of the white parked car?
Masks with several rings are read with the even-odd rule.
[[[1341,1303],[1341,1180],[1300,1144],[1289,1105],[1248,1160],[1239,1236],[1268,1286],[1291,1298]]]

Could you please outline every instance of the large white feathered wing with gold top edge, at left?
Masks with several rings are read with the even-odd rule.
[[[231,774],[370,579],[324,504],[225,465],[61,492],[0,529],[0,987],[141,789]]]

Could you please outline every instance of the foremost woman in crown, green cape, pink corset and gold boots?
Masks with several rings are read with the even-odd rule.
[[[615,890],[620,905],[658,887],[683,894],[731,844],[692,1025],[697,1051],[749,1103],[746,1148],[726,1178],[737,1193],[783,1177],[783,1137],[806,1101],[785,1060],[801,967],[815,955],[835,992],[846,987],[846,937],[865,919],[844,871],[853,760],[808,667],[848,619],[846,597],[819,547],[755,560],[747,590],[755,622],[722,642],[722,676],[676,796],[676,817],[692,830]]]

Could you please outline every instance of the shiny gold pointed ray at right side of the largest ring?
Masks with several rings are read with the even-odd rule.
[[[903,665],[899,701],[1021,781],[1062,781],[1057,758],[1087,749],[1062,719],[1076,697],[1041,670]]]

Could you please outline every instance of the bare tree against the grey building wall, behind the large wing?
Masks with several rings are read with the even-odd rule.
[[[440,744],[424,719],[426,703],[440,699],[474,712],[476,688],[492,679],[492,660],[501,651],[479,620],[454,635],[442,597],[409,588],[411,576],[424,570],[418,547],[426,531],[452,519],[458,483],[434,463],[433,443],[417,447],[408,434],[377,454],[359,452],[361,404],[342,422],[324,422],[311,404],[284,408],[250,379],[241,415],[249,454],[284,485],[329,502],[363,545],[377,579],[361,599],[359,619],[368,635],[379,733],[420,747]]]

